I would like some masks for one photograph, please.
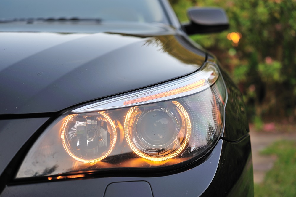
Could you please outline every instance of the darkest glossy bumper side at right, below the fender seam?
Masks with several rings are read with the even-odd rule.
[[[223,141],[217,173],[206,196],[254,196],[253,164],[250,136],[240,142]]]

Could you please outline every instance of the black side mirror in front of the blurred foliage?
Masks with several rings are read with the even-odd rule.
[[[190,23],[182,25],[187,34],[220,32],[229,28],[228,17],[222,8],[188,9]]]

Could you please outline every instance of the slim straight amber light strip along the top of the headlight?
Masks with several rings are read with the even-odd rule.
[[[158,94],[155,94],[155,95],[150,95],[150,96],[147,96],[147,97],[141,97],[141,98],[137,98],[137,99],[133,99],[133,100],[128,100],[128,101],[125,101],[123,103],[123,105],[131,105],[131,104],[134,104],[134,103],[145,102],[145,101],[148,101],[148,100],[158,99],[158,98],[162,98],[162,97],[168,97],[168,96],[171,96],[171,95],[177,95],[177,94],[180,94],[180,93],[183,93],[183,92],[188,92],[188,91],[197,89],[197,88],[202,87],[204,85],[205,85],[205,79],[201,79],[201,80],[199,80],[199,81],[197,81],[195,83],[192,83],[192,84],[180,87],[180,88],[172,89],[172,90],[169,90],[169,91],[166,91],[166,92],[158,93]]]

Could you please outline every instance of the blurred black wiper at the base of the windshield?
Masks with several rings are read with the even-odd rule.
[[[99,18],[79,18],[79,17],[49,17],[49,18],[13,18],[13,19],[0,19],[0,23],[13,23],[13,22],[25,22],[27,24],[32,24],[36,21],[41,22],[63,22],[63,21],[70,21],[70,22],[80,22],[80,21],[90,21],[95,23],[101,23],[102,19]]]

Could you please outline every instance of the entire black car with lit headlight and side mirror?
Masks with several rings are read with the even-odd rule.
[[[242,95],[167,0],[0,2],[0,196],[253,196]]]

